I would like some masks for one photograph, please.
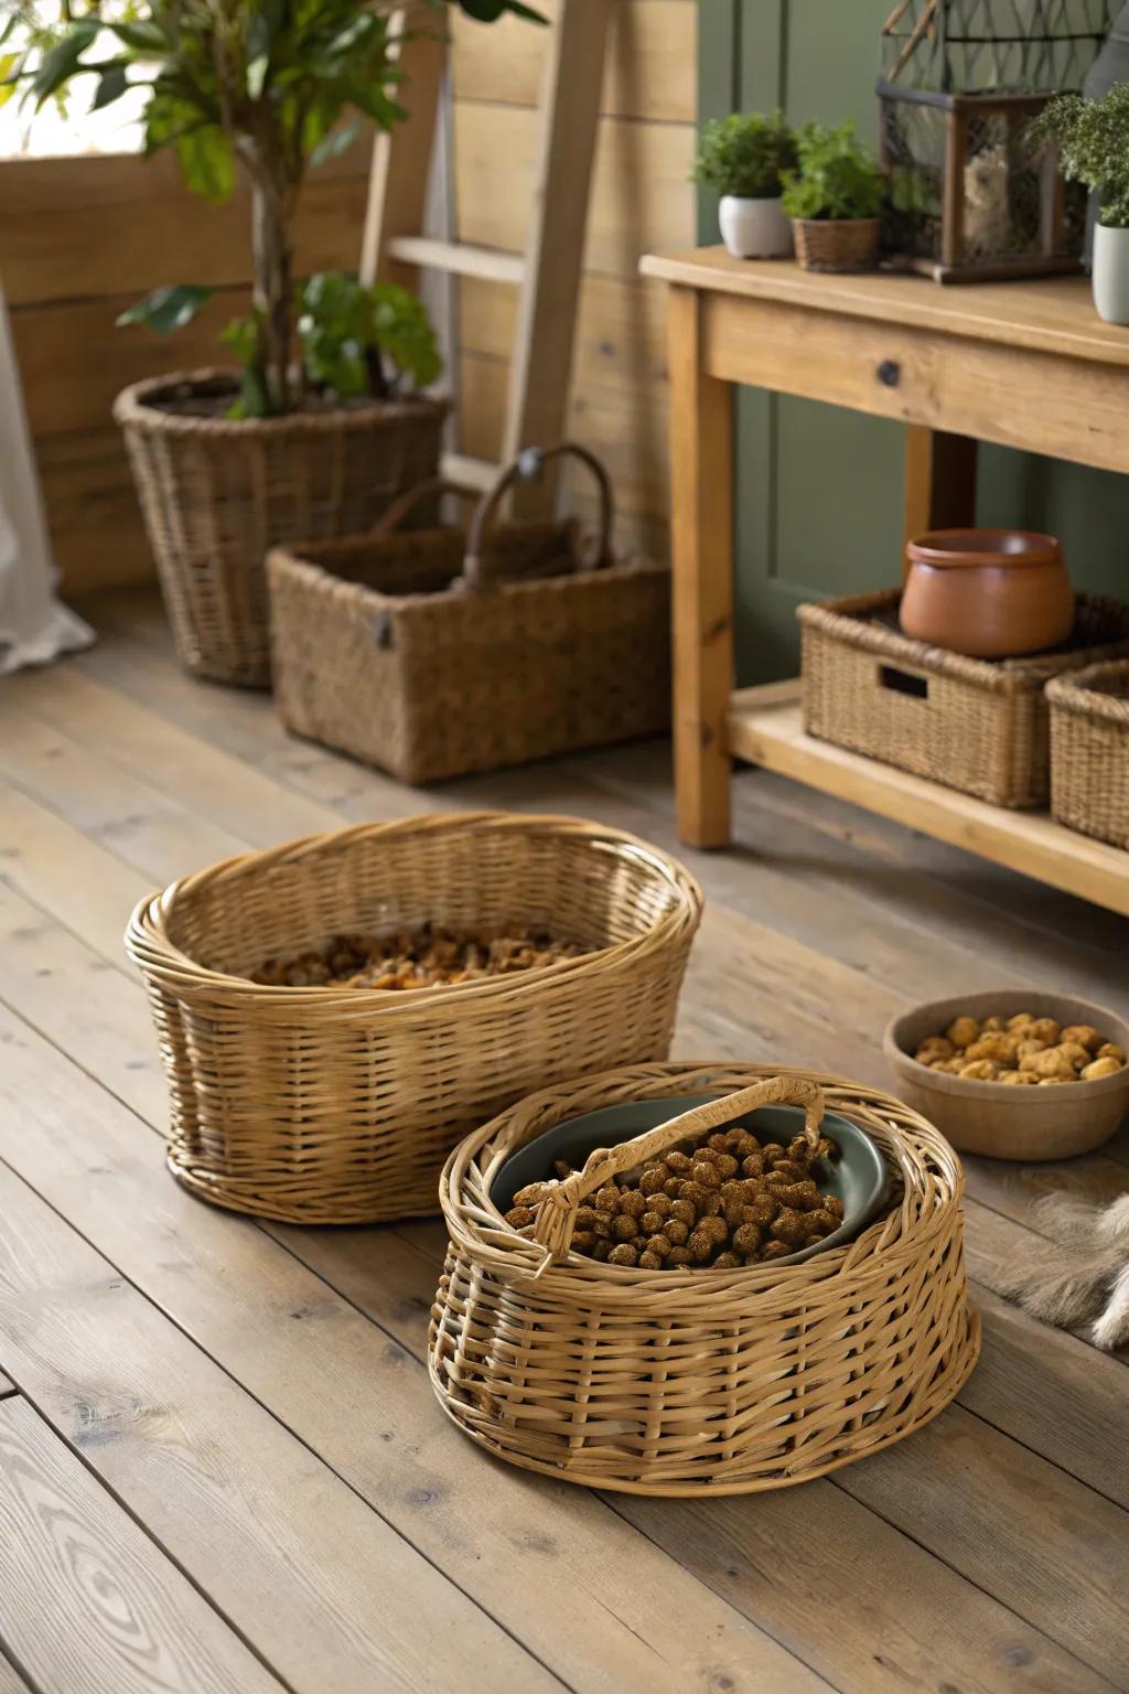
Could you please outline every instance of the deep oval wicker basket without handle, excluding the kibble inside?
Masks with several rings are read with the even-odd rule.
[[[701,893],[576,818],[366,823],[245,854],[139,905],[125,937],[164,1057],[173,1172],[289,1223],[438,1210],[455,1142],[531,1088],[665,1057]],[[411,991],[262,988],[264,959],[432,920],[543,925],[592,952]]]

